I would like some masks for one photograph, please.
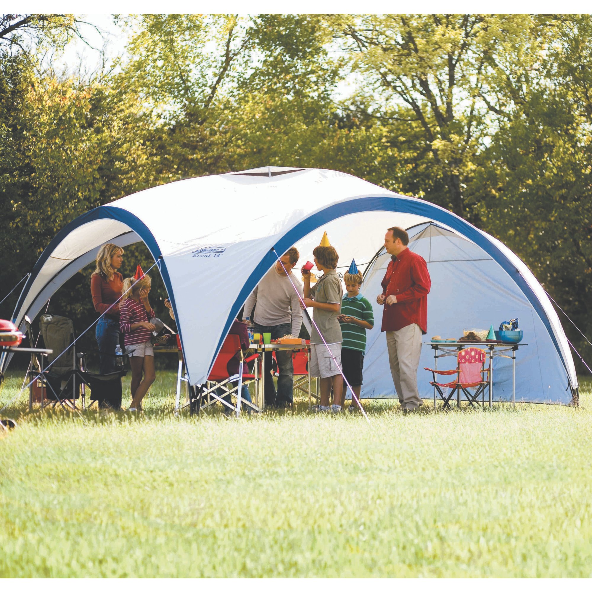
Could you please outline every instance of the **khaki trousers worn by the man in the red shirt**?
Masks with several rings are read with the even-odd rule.
[[[387,331],[388,362],[401,407],[416,409],[423,404],[417,391],[417,366],[422,353],[422,330],[418,324]]]

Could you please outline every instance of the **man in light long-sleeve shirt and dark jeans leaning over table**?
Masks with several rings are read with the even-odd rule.
[[[272,339],[279,339],[287,334],[298,337],[302,325],[302,309],[300,300],[292,284],[298,289],[302,297],[302,284],[294,274],[292,268],[298,263],[300,253],[296,247],[291,247],[285,255],[261,279],[252,294],[244,303],[243,320],[253,319],[255,333],[271,333]],[[288,272],[286,275],[285,270]],[[253,308],[255,313],[252,315]],[[272,367],[272,353],[265,353],[265,404],[285,408],[294,402],[292,388],[294,386],[294,365],[292,351],[276,351],[278,361],[278,392],[275,392],[274,379],[269,372]]]

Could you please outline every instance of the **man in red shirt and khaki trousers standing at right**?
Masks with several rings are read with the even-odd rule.
[[[388,361],[401,408],[414,411],[423,401],[417,391],[422,334],[427,332],[427,294],[432,281],[423,257],[407,245],[409,235],[398,226],[387,230],[384,247],[391,255],[382,279],[382,331],[387,332]]]

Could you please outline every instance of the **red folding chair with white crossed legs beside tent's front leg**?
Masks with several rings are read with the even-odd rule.
[[[230,359],[234,358],[237,354],[240,354],[239,374],[229,376],[226,365]],[[254,403],[244,401],[241,397],[242,385],[249,384],[257,378],[259,359],[259,354],[249,356],[246,359],[243,358],[243,350],[240,347],[240,337],[238,335],[228,335],[214,361],[214,367],[208,376],[206,384],[201,385],[201,387],[198,387],[197,389],[192,387],[189,388],[189,411],[191,414],[199,413],[200,410],[214,405],[216,401],[220,401],[223,406],[236,411],[237,416],[240,414],[240,408],[242,405],[252,408],[255,411],[259,411],[259,407]],[[243,365],[251,361],[255,361],[255,373],[243,374]],[[219,395],[216,392],[218,388],[221,388],[224,391],[223,395]],[[228,401],[224,401],[223,397],[226,397],[227,395],[236,398],[236,407],[233,407]]]

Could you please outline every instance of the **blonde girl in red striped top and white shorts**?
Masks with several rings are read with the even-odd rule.
[[[137,281],[134,278],[123,281],[119,326],[125,335],[124,343],[131,365],[131,404],[128,411],[141,411],[141,401],[156,379],[152,349],[155,326],[150,323],[155,314],[148,301],[149,292],[150,278],[147,275]]]

